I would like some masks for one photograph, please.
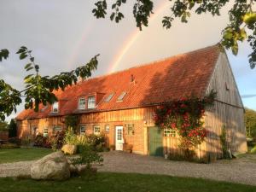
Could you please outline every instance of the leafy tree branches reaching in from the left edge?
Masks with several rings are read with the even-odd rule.
[[[25,108],[33,108],[36,112],[40,103],[46,106],[48,103],[53,104],[57,101],[54,94],[54,90],[64,90],[68,85],[76,84],[78,78],[89,78],[91,72],[96,70],[98,61],[98,55],[95,55],[84,66],[77,67],[71,72],[60,73],[53,77],[41,76],[39,73],[39,65],[35,62],[35,58],[32,56],[32,50],[27,49],[25,46],[21,46],[17,51],[20,55],[20,60],[28,58],[28,63],[24,67],[28,75],[24,78],[26,84],[25,90],[15,90],[10,84],[0,79],[0,119],[4,120],[5,116],[9,115],[13,111],[16,112],[16,106],[19,105],[22,100],[21,96],[25,97]],[[0,61],[9,57],[9,50],[0,50]],[[33,70],[33,73],[32,73]]]

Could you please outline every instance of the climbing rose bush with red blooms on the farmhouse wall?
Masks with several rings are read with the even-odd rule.
[[[155,124],[161,128],[171,128],[180,136],[180,148],[188,150],[205,141],[207,130],[203,127],[202,118],[207,106],[212,105],[216,92],[197,98],[182,97],[176,102],[168,102],[156,108]]]

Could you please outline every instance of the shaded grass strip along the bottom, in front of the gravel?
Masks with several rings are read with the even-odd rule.
[[[99,172],[95,177],[73,177],[65,182],[0,178],[0,192],[255,192],[256,186],[215,182],[199,178]]]

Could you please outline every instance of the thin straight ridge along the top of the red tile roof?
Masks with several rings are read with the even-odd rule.
[[[120,71],[117,71],[117,72],[106,73],[106,74],[102,74],[102,75],[96,76],[96,77],[94,77],[94,78],[85,79],[85,80],[79,81],[77,84],[79,84],[79,83],[84,83],[84,82],[89,81],[89,80],[92,80],[92,79],[101,79],[101,78],[105,78],[105,77],[108,77],[108,76],[111,76],[111,75],[114,75],[114,74],[117,74],[117,73],[124,73],[124,72],[129,71],[129,70],[131,70],[131,69],[133,69],[133,68],[151,66],[151,65],[154,65],[154,64],[159,63],[159,62],[162,62],[162,61],[170,60],[170,59],[172,59],[172,58],[176,58],[176,57],[179,57],[179,56],[182,56],[182,55],[189,55],[189,54],[192,54],[192,53],[195,53],[195,52],[200,52],[200,51],[202,51],[203,49],[210,49],[210,48],[217,47],[217,46],[218,46],[218,44],[212,44],[212,45],[209,45],[209,46],[207,46],[207,47],[203,47],[203,48],[201,48],[201,49],[193,49],[193,50],[190,50],[190,51],[187,51],[187,52],[183,52],[183,53],[180,53],[180,54],[177,54],[177,55],[168,56],[168,57],[163,58],[163,59],[159,59],[159,60],[155,60],[155,61],[151,61],[151,62],[143,62],[143,63],[140,63],[140,64],[134,66],[134,67],[125,68],[125,69],[120,70]]]

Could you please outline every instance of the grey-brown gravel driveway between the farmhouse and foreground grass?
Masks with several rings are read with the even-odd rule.
[[[202,177],[256,185],[255,154],[246,154],[236,160],[218,160],[211,164],[164,160],[161,157],[127,154],[118,151],[102,154],[104,163],[103,166],[98,166],[99,172],[137,172],[180,177]],[[29,174],[32,162],[0,164],[0,177]]]

